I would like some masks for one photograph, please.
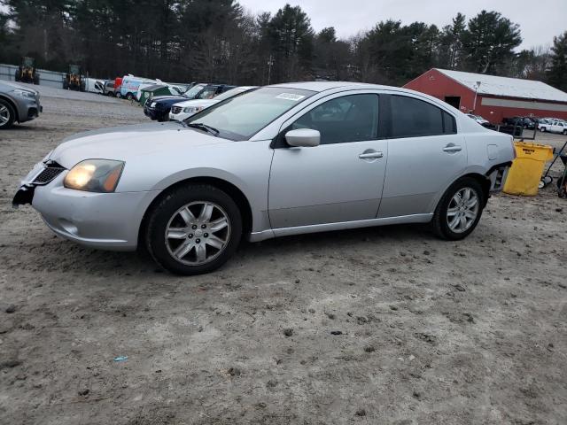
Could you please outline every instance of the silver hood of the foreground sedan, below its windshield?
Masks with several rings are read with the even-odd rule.
[[[66,138],[49,156],[71,168],[84,159],[116,159],[128,163],[139,157],[172,155],[198,146],[233,143],[177,122],[102,128]]]

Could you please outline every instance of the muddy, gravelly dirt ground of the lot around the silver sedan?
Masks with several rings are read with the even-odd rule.
[[[493,197],[459,243],[420,226],[286,237],[183,278],[12,210],[66,135],[146,121],[126,101],[40,89],[41,118],[0,132],[0,423],[567,423],[553,188]]]

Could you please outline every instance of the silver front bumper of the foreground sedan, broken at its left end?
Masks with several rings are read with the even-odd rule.
[[[63,186],[66,172],[44,186],[23,184],[13,204],[31,203],[58,236],[91,248],[135,251],[144,213],[160,190],[94,193]]]

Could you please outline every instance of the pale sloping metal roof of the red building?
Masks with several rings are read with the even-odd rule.
[[[462,71],[435,69],[471,90],[474,90],[477,81],[480,81],[480,87],[478,88],[478,94],[480,95],[567,102],[567,93],[554,89],[541,81],[497,77],[495,75],[486,75],[485,73],[463,73]]]

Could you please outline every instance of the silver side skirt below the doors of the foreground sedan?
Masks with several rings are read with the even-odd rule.
[[[314,224],[311,226],[296,226],[293,228],[274,228],[261,232],[254,232],[249,236],[250,242],[260,242],[277,236],[303,235],[306,233],[330,232],[333,230],[346,230],[348,228],[371,228],[389,224],[428,223],[433,213],[403,215],[400,217],[385,217],[381,219],[342,221],[339,223]]]

